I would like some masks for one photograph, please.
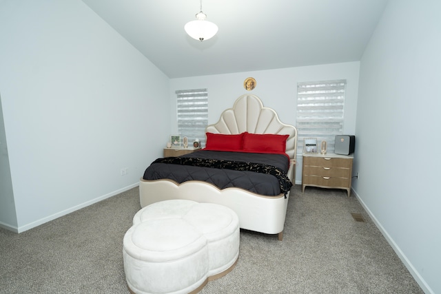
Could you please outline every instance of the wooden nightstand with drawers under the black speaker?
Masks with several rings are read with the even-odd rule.
[[[302,191],[306,186],[347,190],[351,195],[352,155],[303,154]]]

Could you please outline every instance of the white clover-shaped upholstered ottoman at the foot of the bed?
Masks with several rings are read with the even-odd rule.
[[[144,207],[123,240],[125,277],[132,293],[196,293],[231,271],[238,254],[236,213],[192,200]]]

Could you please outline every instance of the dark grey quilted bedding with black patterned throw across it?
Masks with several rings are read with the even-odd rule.
[[[257,153],[245,153],[245,152],[227,152],[227,151],[210,151],[201,150],[193,152],[192,154],[186,154],[181,158],[201,158],[201,162],[207,160],[215,160],[212,166],[222,166],[219,162],[252,162],[253,164],[260,164],[274,167],[271,173],[274,171],[281,171],[285,174],[289,169],[289,160],[287,156],[283,154],[257,154]],[[143,178],[145,180],[161,180],[170,179],[176,182],[185,182],[188,180],[202,180],[212,183],[219,189],[225,189],[228,187],[239,187],[258,193],[264,196],[278,196],[280,193],[286,193],[284,190],[288,190],[291,187],[291,182],[287,179],[280,182],[280,178],[286,178],[285,176],[274,176],[265,172],[254,172],[248,170],[234,170],[229,168],[214,168],[214,167],[198,167],[193,165],[181,165],[165,162],[176,162],[173,158],[171,160],[158,159],[152,163],[150,167],[145,170]],[[189,160],[179,160],[187,162]],[[241,165],[244,169],[243,166]],[[245,168],[246,169],[246,168]],[[262,167],[262,169],[265,169]],[[268,169],[268,168],[267,168]]]

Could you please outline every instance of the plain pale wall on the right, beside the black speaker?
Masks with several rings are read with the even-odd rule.
[[[360,65],[353,188],[427,293],[441,293],[441,1],[389,2]]]

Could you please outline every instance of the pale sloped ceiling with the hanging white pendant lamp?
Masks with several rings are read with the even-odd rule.
[[[360,61],[388,0],[83,0],[169,78]]]

